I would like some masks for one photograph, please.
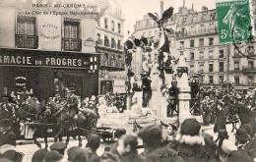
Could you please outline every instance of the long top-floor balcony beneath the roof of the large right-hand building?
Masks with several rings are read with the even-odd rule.
[[[209,34],[216,34],[218,32],[217,27],[213,28],[204,28],[204,29],[195,29],[195,30],[185,30],[185,31],[176,31],[175,35],[177,38],[187,38],[193,37],[196,35],[209,35]]]

